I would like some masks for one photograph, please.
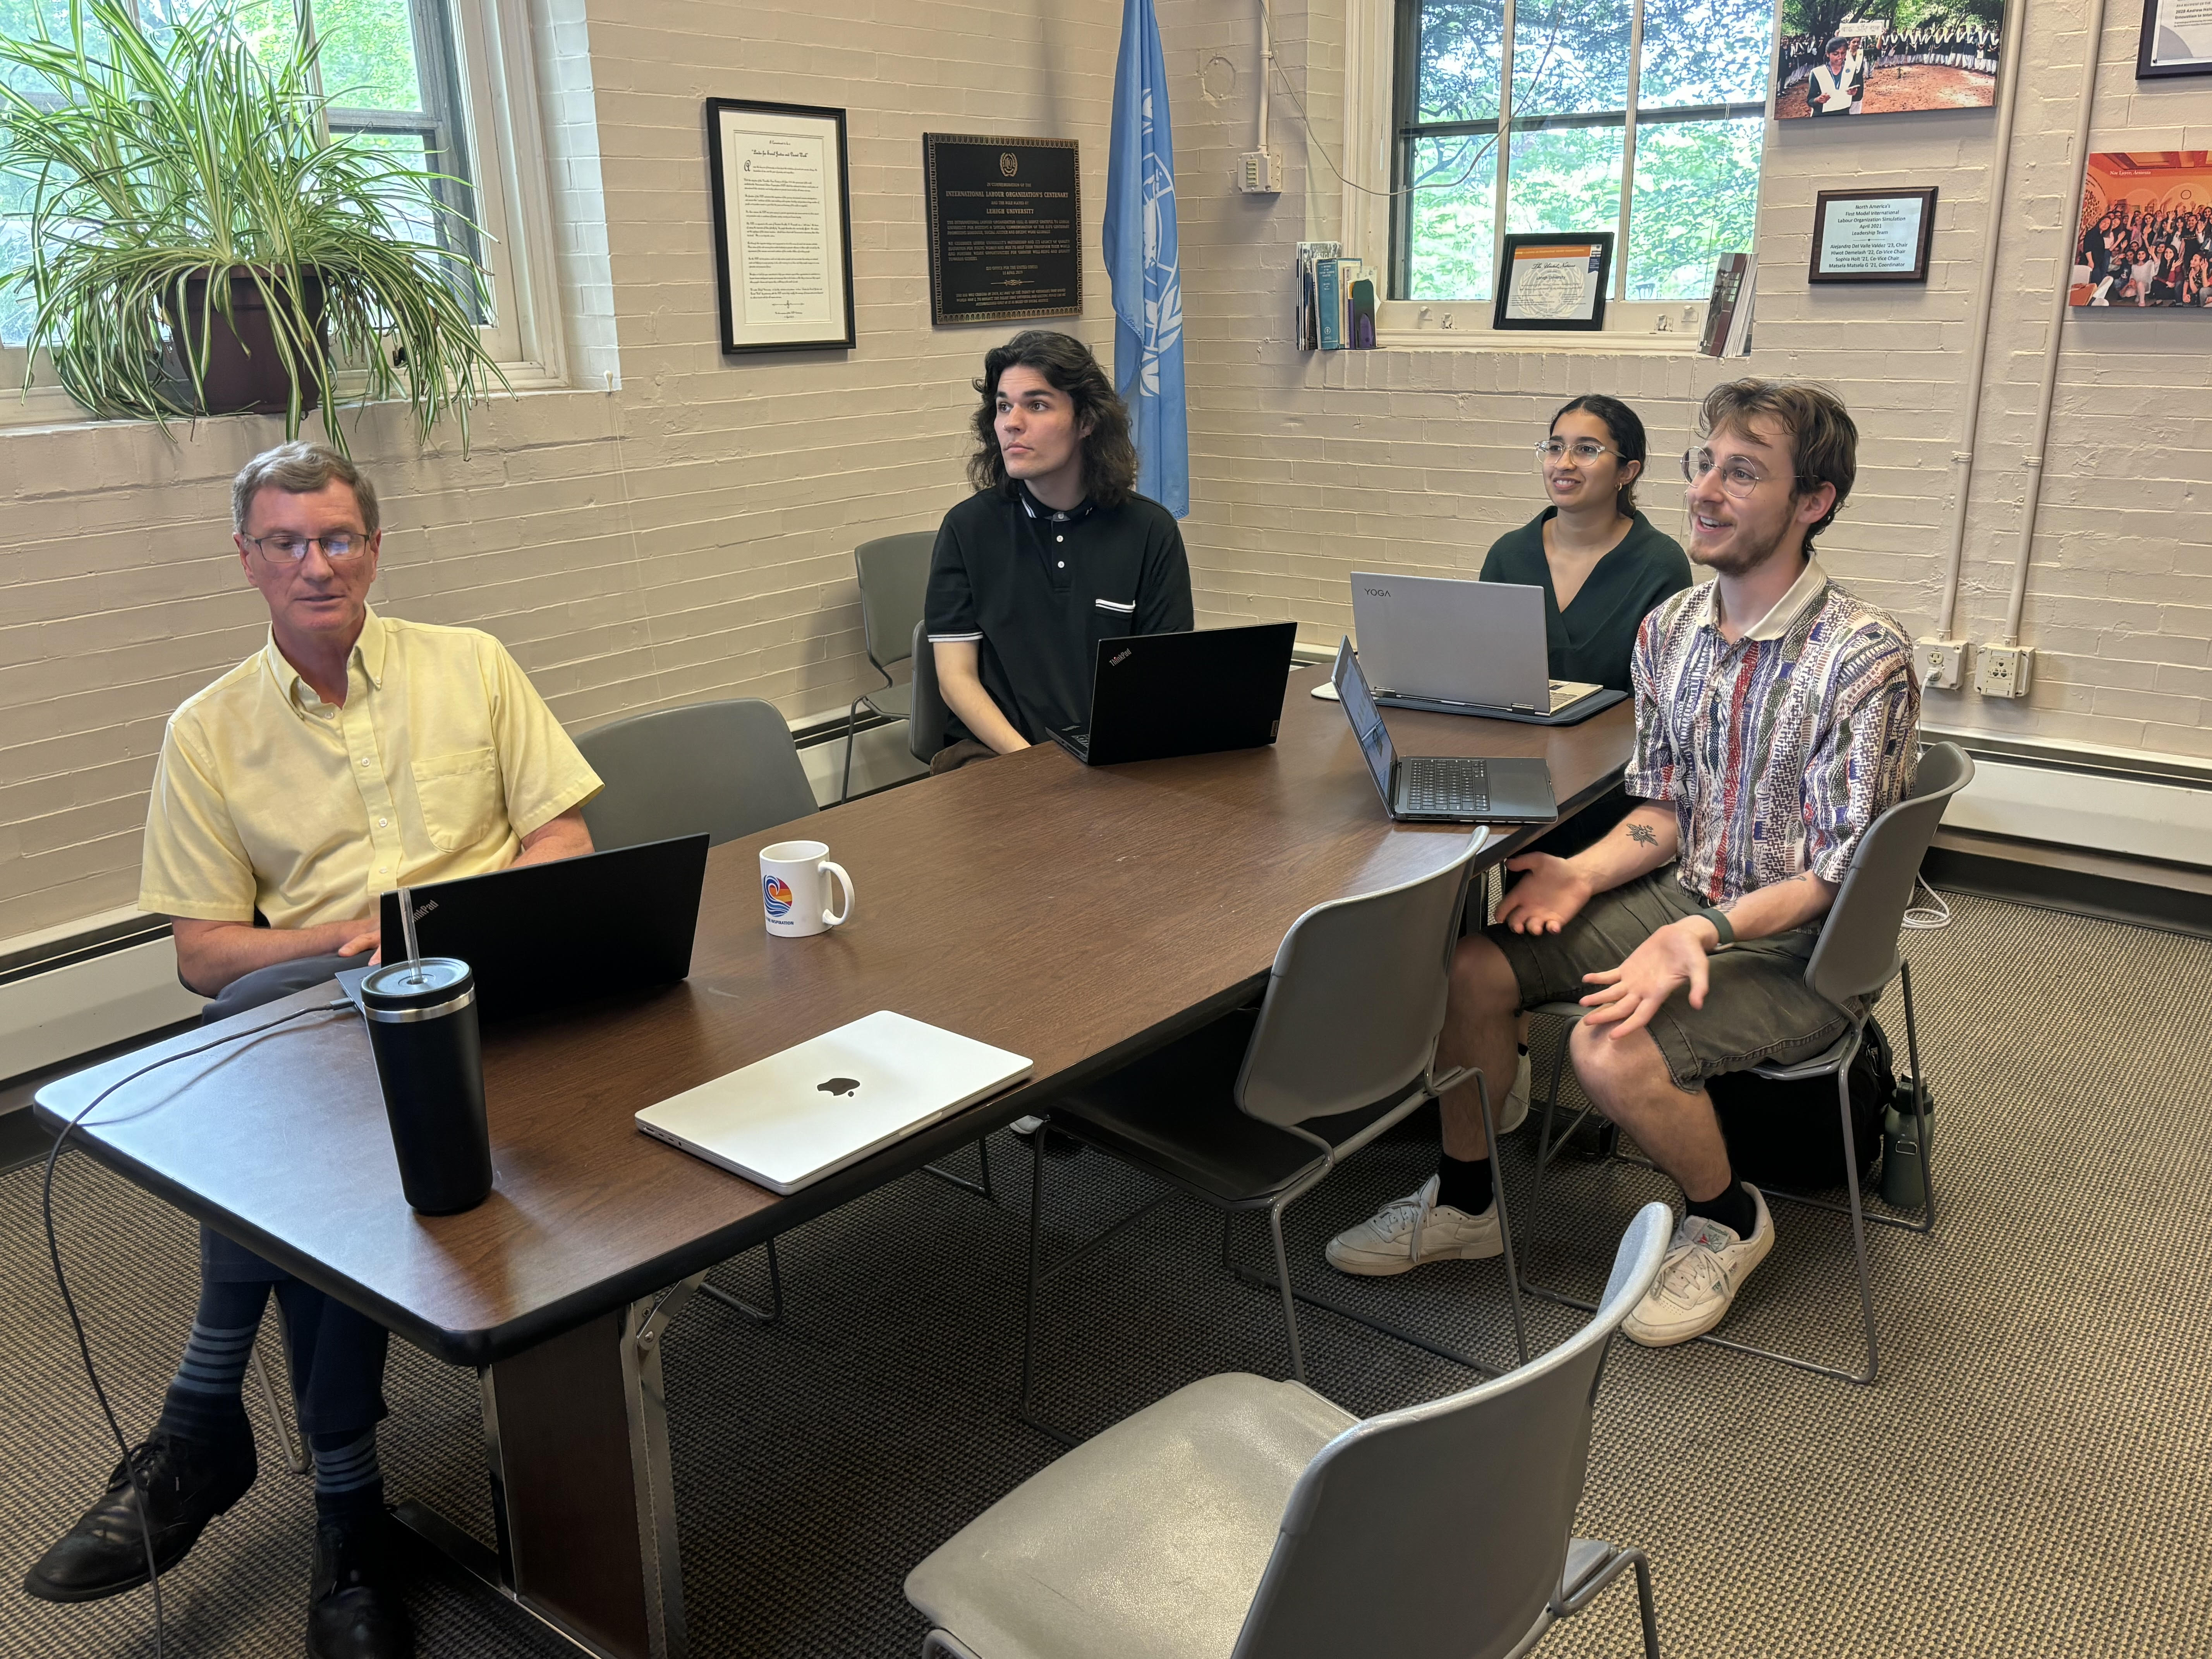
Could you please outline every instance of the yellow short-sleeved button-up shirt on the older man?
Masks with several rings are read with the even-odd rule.
[[[170,717],[139,909],[354,920],[389,887],[504,869],[522,836],[597,792],[507,646],[372,611],[343,706],[272,637]]]

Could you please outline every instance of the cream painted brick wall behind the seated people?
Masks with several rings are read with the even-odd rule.
[[[540,100],[555,128],[564,259],[604,259],[568,296],[577,369],[619,338],[622,389],[531,394],[480,411],[473,453],[418,453],[372,411],[356,453],[392,533],[378,604],[487,626],[555,712],[588,728],[639,708],[759,695],[785,712],[869,684],[852,546],[929,526],[960,498],[967,380],[1009,330],[931,330],[920,135],[1075,137],[1091,226],[1086,314],[1113,319],[1095,228],[1117,0],[538,0]],[[1358,566],[1473,573],[1542,504],[1528,440],[1575,392],[1628,398],[1661,458],[1723,372],[1701,358],[1577,352],[1292,349],[1292,259],[1336,234],[1338,188],[1276,95],[1279,197],[1230,186],[1250,148],[1254,0],[1159,0],[1177,126],[1190,367],[1192,515],[1206,622],[1292,617],[1312,641],[1349,626]],[[1279,0],[1276,49],[1340,155],[1340,0]],[[2017,535],[2059,195],[2081,66],[2079,0],[2033,9],[2028,82],[2000,261],[1995,356],[1969,538],[1969,637],[2002,626]],[[2137,88],[2135,15],[2101,51],[2099,148],[2212,148],[2212,91]],[[588,42],[586,66],[573,62]],[[1219,102],[1208,58],[1237,66]],[[588,71],[588,73],[586,73]],[[854,290],[845,354],[723,361],[701,100],[849,111]],[[586,119],[595,113],[593,133]],[[1942,509],[1960,447],[1958,380],[1986,226],[1993,115],[1854,124],[1849,144],[1783,128],[1761,204],[1754,374],[1836,385],[1865,434],[1860,489],[1823,538],[1847,582],[1916,633],[1931,624]],[[1805,285],[1812,195],[1858,179],[1936,184],[1927,290]],[[604,241],[595,204],[604,201]],[[1374,250],[1380,257],[1380,250]],[[575,281],[575,279],[571,279]],[[2026,641],[2035,695],[1933,695],[1929,719],[1991,732],[2212,754],[2212,319],[2066,325]],[[582,374],[580,374],[582,378]],[[0,431],[0,938],[131,902],[144,796],[170,708],[257,646],[259,599],[228,551],[226,480],[274,422],[219,420],[177,442],[124,425]]]

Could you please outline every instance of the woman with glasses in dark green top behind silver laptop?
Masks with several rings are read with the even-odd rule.
[[[1690,586],[1681,544],[1637,511],[1644,422],[1619,398],[1575,398],[1535,456],[1551,507],[1491,544],[1482,580],[1544,588],[1553,679],[1628,690],[1637,624]]]

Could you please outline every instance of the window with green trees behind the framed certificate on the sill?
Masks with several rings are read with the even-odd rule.
[[[1615,232],[1615,299],[1752,246],[1767,0],[1398,0],[1391,294],[1489,299],[1511,230]]]

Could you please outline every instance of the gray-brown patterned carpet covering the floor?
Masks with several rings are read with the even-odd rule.
[[[2212,947],[1953,907],[1951,929],[1911,940],[1949,1208],[1936,1239],[1874,1239],[1880,1385],[1710,1347],[1624,1345],[1608,1369],[1582,1531],[1650,1548],[1670,1655],[2212,1650]],[[907,1659],[920,1624],[905,1571],[1051,1460],[1009,1413],[1026,1155],[1004,1137],[993,1150],[998,1206],[909,1177],[787,1237],[783,1327],[703,1298],[677,1321],[668,1387],[701,1659]],[[1383,1144],[1292,1210],[1303,1272],[1332,1279],[1323,1239],[1416,1186],[1425,1159]],[[1661,1192],[1639,1170],[1579,1164],[1537,1206],[1526,1152],[1509,1155],[1515,1168],[1531,1272],[1584,1290],[1617,1228]],[[1048,1179],[1062,1237],[1146,1192],[1095,1155],[1048,1164]],[[190,1230],[77,1157],[62,1161],[58,1206],[97,1358],[139,1429],[188,1325]],[[1783,1210],[1778,1225],[1732,1327],[1849,1363],[1843,1223]],[[1241,1243],[1256,1259],[1259,1230]],[[1048,1413],[1093,1431],[1210,1371],[1281,1374],[1272,1298],[1225,1279],[1217,1252],[1217,1225],[1170,1203],[1055,1281]],[[759,1256],[721,1279],[759,1292]],[[1495,1263],[1338,1290],[1509,1354]],[[153,1655],[144,1590],[86,1608],[13,1590],[113,1460],[46,1274],[38,1170],[0,1177],[0,1652]],[[1573,1321],[1533,1305],[1531,1336],[1559,1340]],[[1467,1380],[1327,1314],[1303,1329],[1314,1385],[1354,1411]],[[394,1495],[487,1531],[473,1378],[396,1349],[389,1396]],[[170,1655],[303,1650],[310,1491],[270,1436],[263,1447],[259,1486],[166,1579]],[[1632,1655],[1632,1608],[1624,1588],[1542,1652]],[[425,1655],[551,1652],[429,1575],[414,1613]]]

